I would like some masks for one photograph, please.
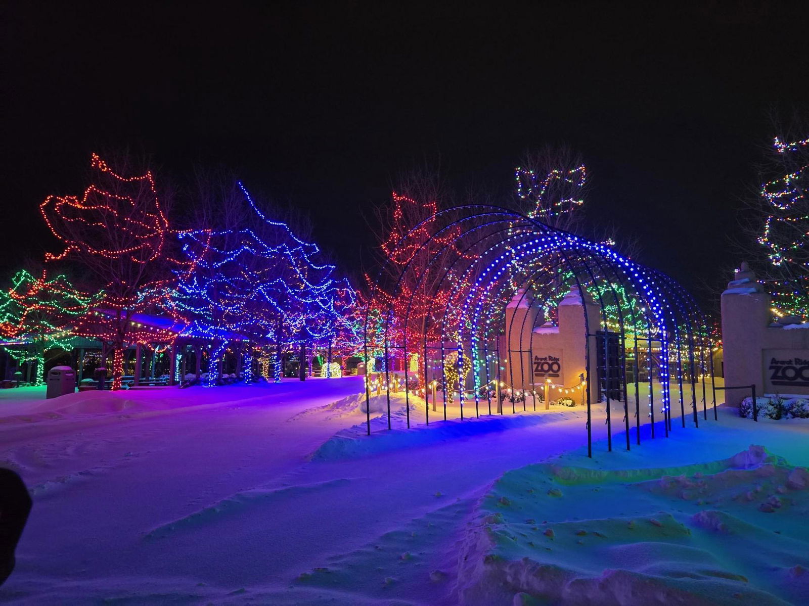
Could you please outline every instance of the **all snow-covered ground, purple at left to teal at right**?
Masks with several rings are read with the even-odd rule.
[[[805,419],[720,408],[699,429],[675,418],[668,439],[646,425],[639,447],[632,431],[626,452],[613,403],[607,452],[596,405],[588,459],[582,407],[431,413],[426,426],[411,398],[408,430],[399,395],[388,431],[382,396],[369,437],[361,390],[356,377],[54,400],[0,390],[0,464],[34,499],[0,601],[531,604],[544,592],[549,603],[778,604],[809,593],[795,468],[809,465]]]

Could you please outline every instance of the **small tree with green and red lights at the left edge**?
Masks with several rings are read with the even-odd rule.
[[[19,362],[36,362],[36,384],[43,384],[46,354],[72,348],[74,325],[101,296],[76,289],[64,275],[48,278],[43,270],[36,278],[22,269],[0,291],[2,345]]]

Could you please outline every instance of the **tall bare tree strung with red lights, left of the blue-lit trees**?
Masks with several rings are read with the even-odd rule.
[[[120,164],[132,172],[127,159]],[[95,183],[81,197],[49,196],[40,205],[53,235],[65,245],[45,259],[74,261],[89,274],[93,286],[104,290],[95,312],[79,320],[74,332],[112,349],[112,388],[117,389],[126,346],[155,340],[154,333],[142,334],[132,316],[154,303],[142,293],[163,292],[154,286],[167,275],[168,221],[151,172],[121,176],[95,154],[91,168]]]

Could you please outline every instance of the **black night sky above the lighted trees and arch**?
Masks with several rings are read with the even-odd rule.
[[[400,170],[507,196],[524,150],[566,142],[591,221],[698,290],[738,261],[770,112],[809,98],[807,3],[126,4],[4,5],[5,272],[54,248],[38,205],[93,150],[232,167],[350,271]]]

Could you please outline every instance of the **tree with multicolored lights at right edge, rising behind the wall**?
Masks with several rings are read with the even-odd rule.
[[[809,139],[790,143],[775,138],[778,172],[761,186],[768,216],[759,243],[771,264],[773,303],[782,313],[809,315]]]

